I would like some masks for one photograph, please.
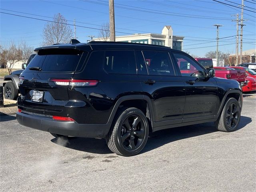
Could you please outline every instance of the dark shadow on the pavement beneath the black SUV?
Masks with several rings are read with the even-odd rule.
[[[251,118],[241,116],[238,130],[244,128],[250,122],[252,122]],[[149,136],[147,144],[140,154],[154,150],[170,142],[213,132],[217,132],[213,122],[160,130]],[[51,141],[58,144],[56,138]],[[105,139],[68,137],[68,144],[65,147],[89,153],[112,154],[108,149]]]

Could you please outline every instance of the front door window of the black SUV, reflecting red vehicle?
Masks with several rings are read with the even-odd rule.
[[[173,54],[180,68],[181,76],[205,77],[204,69],[190,57],[175,52]]]

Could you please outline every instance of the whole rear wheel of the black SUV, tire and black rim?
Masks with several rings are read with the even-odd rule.
[[[148,120],[141,110],[123,108],[116,114],[106,142],[112,152],[133,156],[146,145],[148,132]]]

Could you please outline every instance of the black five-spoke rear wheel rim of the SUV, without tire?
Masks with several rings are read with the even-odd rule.
[[[135,150],[142,144],[145,137],[145,124],[138,115],[131,115],[122,124],[121,142],[124,148]]]

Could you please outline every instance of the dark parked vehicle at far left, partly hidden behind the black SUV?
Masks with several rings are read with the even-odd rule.
[[[4,98],[16,100],[19,95],[19,88],[18,88],[18,82],[19,82],[19,76],[22,73],[22,71],[26,68],[26,65],[30,63],[30,61],[34,58],[36,54],[30,55],[28,58],[28,62],[25,64],[22,64],[22,70],[16,70],[13,71],[10,75],[4,76],[4,81],[9,81],[6,83],[3,83],[4,86]]]

